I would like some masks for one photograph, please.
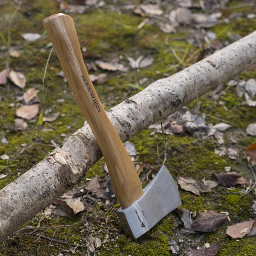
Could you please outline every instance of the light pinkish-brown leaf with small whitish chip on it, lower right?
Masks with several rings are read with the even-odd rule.
[[[246,220],[244,222],[236,223],[228,226],[226,229],[226,234],[231,236],[231,238],[243,238],[246,234],[249,234],[254,224],[255,219]]]

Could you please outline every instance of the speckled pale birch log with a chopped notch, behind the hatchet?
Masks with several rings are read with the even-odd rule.
[[[122,142],[256,64],[256,31],[107,111]],[[0,190],[0,241],[78,184],[102,157],[89,126]]]

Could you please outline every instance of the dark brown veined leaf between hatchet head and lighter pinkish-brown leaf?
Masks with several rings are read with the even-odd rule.
[[[214,210],[199,213],[192,222],[192,229],[200,232],[212,232],[219,229],[226,218],[228,218],[226,214],[217,213]]]

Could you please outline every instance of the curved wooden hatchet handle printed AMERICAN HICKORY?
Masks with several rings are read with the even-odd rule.
[[[76,102],[100,145],[117,199],[122,208],[126,208],[143,194],[142,185],[91,82],[82,58],[74,21],[70,16],[59,13],[44,19],[43,25]]]

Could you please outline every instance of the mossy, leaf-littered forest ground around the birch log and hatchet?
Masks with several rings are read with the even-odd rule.
[[[253,0],[1,0],[0,71],[10,68],[16,75],[23,74],[26,85],[22,88],[22,75],[9,77],[0,85],[0,189],[54,148],[61,147],[85,122],[61,76],[62,68],[54,51],[44,78],[52,47],[42,21],[58,12],[74,19],[86,66],[95,76],[95,89],[106,109],[256,30]],[[36,33],[39,37],[34,40]],[[102,62],[107,63],[105,68]],[[226,235],[228,226],[256,218],[256,178],[247,159],[249,155],[244,154],[255,142],[255,134],[248,132],[248,126],[255,123],[254,79],[255,67],[162,120],[164,133],[158,123],[129,140],[135,166],[146,161],[140,175],[143,186],[156,175],[163,161],[176,182],[180,177],[199,183],[203,179],[217,181],[214,174],[228,171],[236,172],[247,182],[231,186],[219,183],[198,194],[179,185],[182,205],[146,234],[132,240],[118,221],[117,202],[106,196],[104,182],[109,175],[101,159],[73,190],[6,238],[0,255],[255,255],[255,235]],[[24,93],[32,88],[37,96],[26,104]],[[47,121],[39,123],[39,108],[33,117],[21,117],[21,123],[16,123],[20,107],[37,104],[42,106]],[[182,131],[173,133],[173,125],[180,117],[185,118],[186,113],[198,117],[206,108],[205,122],[195,122],[193,128],[185,131],[186,124],[182,123]],[[223,132],[209,135],[209,129],[219,123],[230,127],[223,128],[221,124]],[[88,189],[91,179],[97,179],[95,186],[101,187]],[[105,192],[100,193],[100,188]],[[84,210],[74,215],[66,206],[67,198],[83,198]],[[188,228],[190,217],[194,221],[200,212],[210,210],[228,214],[229,218],[215,231]],[[206,249],[218,241],[216,251]]]

